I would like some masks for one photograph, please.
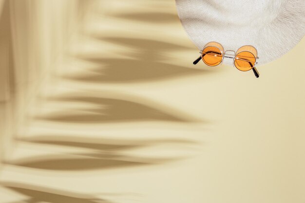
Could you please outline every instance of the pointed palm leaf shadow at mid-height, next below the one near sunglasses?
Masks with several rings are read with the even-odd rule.
[[[51,99],[50,99],[51,100]],[[135,101],[123,99],[71,96],[55,98],[57,101],[85,102],[93,107],[80,110],[80,113],[60,112],[47,115],[39,115],[38,119],[51,120],[57,122],[79,122],[79,123],[106,123],[106,122],[128,122],[128,121],[172,121],[172,122],[196,122],[186,114],[178,115],[179,112],[173,110],[172,113],[141,104]]]

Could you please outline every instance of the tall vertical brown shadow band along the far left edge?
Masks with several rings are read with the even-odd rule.
[[[9,4],[9,0],[0,0],[0,161],[6,159],[12,148],[12,132],[18,127],[14,121],[20,116],[18,105],[24,102],[16,87]]]

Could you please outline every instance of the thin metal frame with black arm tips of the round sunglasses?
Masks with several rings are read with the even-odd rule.
[[[216,47],[216,46],[209,46],[209,47],[215,47],[215,48],[217,48],[217,49],[219,49],[219,47]],[[253,46],[252,46],[253,47]],[[206,48],[206,47],[205,47]],[[205,49],[204,48],[204,49]],[[255,49],[255,47],[253,47],[254,49]],[[256,49],[255,49],[256,50]],[[219,51],[221,52],[221,55],[222,55],[222,59],[221,59],[221,63],[220,64],[218,64],[218,65],[221,65],[222,63],[223,63],[223,61],[224,61],[224,58],[232,58],[232,59],[234,59],[233,60],[233,66],[235,67],[235,68],[237,68],[236,66],[235,66],[235,63],[234,63],[234,61],[235,61],[235,59],[237,58],[236,57],[236,53],[235,53],[235,51],[233,51],[233,50],[227,50],[227,51],[225,51],[225,53],[223,53],[220,49],[219,49]],[[234,52],[234,55],[230,55],[230,54],[226,54],[227,52]],[[249,52],[249,51],[243,51],[243,52]],[[194,65],[196,65],[202,58],[203,58],[203,56],[204,55],[206,55],[206,54],[209,54],[209,53],[205,53],[205,54],[203,54],[203,51],[200,51],[199,52],[201,55],[193,62],[193,64]],[[212,53],[212,52],[211,52]],[[249,53],[251,53],[251,52],[249,52]],[[213,52],[213,54],[219,54],[219,53],[214,53]],[[252,55],[254,55],[253,53],[251,53]],[[239,60],[244,60],[244,61],[248,61],[248,63],[250,64],[250,66],[252,67],[252,71],[253,71],[253,73],[254,73],[254,75],[255,75],[255,77],[259,77],[260,76],[260,74],[258,73],[258,71],[257,71],[257,69],[255,68],[255,65],[257,64],[257,62],[256,62],[256,59],[258,59],[259,57],[255,57],[255,63],[254,64],[252,64],[250,61],[248,61],[248,60],[246,60],[246,59],[242,59],[242,58],[238,58]],[[238,68],[237,68],[238,69]],[[239,70],[239,69],[238,69]],[[241,70],[239,70],[239,71],[241,71]]]

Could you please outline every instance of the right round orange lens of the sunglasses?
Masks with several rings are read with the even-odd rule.
[[[240,71],[249,71],[255,66],[256,58],[251,52],[240,52],[235,56],[234,65]]]

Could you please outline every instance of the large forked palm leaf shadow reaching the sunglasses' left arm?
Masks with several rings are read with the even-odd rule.
[[[126,83],[148,82],[207,73],[204,70],[172,64],[170,62],[172,59],[164,54],[164,52],[173,50],[190,49],[185,46],[152,39],[126,37],[103,37],[100,39],[132,48],[135,51],[119,54],[131,58],[78,55],[84,60],[100,65],[100,67],[92,69],[89,74],[69,75],[68,78],[94,83]],[[164,62],[166,59],[169,62]]]

